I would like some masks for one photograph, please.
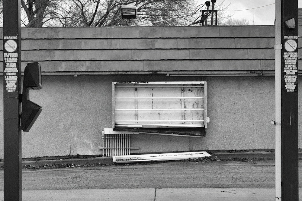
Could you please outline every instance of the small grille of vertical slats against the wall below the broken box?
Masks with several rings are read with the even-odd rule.
[[[130,155],[130,134],[106,135],[106,156]]]

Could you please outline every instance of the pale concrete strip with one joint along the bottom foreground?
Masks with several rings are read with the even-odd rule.
[[[299,188],[300,197],[302,188]],[[3,191],[0,191],[3,198]],[[271,188],[140,188],[140,189],[75,189],[75,190],[26,190],[24,201],[273,201],[275,189]],[[300,198],[299,200],[302,200]]]

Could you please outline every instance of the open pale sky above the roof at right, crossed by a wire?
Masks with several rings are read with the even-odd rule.
[[[197,3],[199,5],[204,2],[205,0],[198,0]],[[221,2],[223,2],[223,0],[217,0],[216,4],[220,4]],[[245,18],[247,21],[249,21],[249,25],[274,25],[275,0],[224,0],[223,5],[229,5],[227,13],[232,14],[234,19]],[[265,7],[257,8],[261,6]],[[298,8],[302,8],[302,0],[298,0]]]

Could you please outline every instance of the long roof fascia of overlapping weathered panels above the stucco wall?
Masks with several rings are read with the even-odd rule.
[[[22,28],[21,32],[22,67],[38,61],[43,72],[274,70],[274,26]]]

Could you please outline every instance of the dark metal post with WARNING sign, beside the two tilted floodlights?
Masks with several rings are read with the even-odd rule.
[[[20,0],[3,1],[4,200],[22,200]]]

